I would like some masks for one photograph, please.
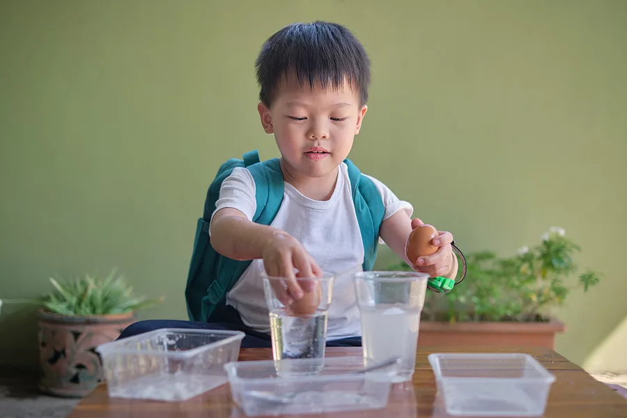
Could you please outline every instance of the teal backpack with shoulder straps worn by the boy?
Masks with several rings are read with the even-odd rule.
[[[385,207],[378,189],[350,160],[348,178],[353,193],[357,222],[364,242],[364,271],[372,270],[377,256],[379,229]],[[219,168],[207,191],[203,217],[196,223],[192,261],[189,263],[185,303],[189,320],[208,322],[217,308],[224,306],[226,293],[238,281],[251,261],[235,261],[217,253],[209,239],[209,222],[219,198],[220,186],[235,167],[246,167],[255,181],[257,209],[253,221],[270,225],[279,212],[284,194],[284,178],[279,159],[260,162],[257,150],[246,153],[242,160],[232,158]]]

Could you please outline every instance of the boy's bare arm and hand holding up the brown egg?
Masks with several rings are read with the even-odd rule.
[[[415,270],[424,271],[431,277],[447,277],[455,279],[458,270],[457,257],[454,256],[450,242],[452,235],[450,233],[442,233],[434,240],[440,240],[440,249],[431,256],[421,257],[425,259],[425,263],[415,265],[415,260],[408,260],[405,255],[405,242],[412,231],[412,219],[405,210],[398,210],[394,215],[385,219],[381,224],[380,236],[388,247],[394,251],[399,257],[403,258],[405,263],[415,268]],[[450,238],[449,238],[449,235]]]

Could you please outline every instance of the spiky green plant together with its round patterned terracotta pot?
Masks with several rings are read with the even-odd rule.
[[[135,313],[162,302],[133,294],[124,277],[112,270],[99,279],[86,274],[75,279],[49,278],[53,288],[38,300],[5,300],[36,303],[40,353],[40,384],[56,396],[90,394],[103,378],[102,362],[95,348],[114,341],[135,320]]]

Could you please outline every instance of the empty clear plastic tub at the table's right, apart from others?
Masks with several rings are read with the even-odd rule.
[[[543,415],[555,376],[522,353],[428,355],[449,415]]]

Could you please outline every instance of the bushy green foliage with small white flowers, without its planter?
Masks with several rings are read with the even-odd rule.
[[[522,247],[518,254],[498,257],[491,251],[466,255],[463,283],[442,295],[428,292],[423,318],[458,321],[545,322],[551,310],[562,306],[574,286],[568,279],[578,272],[573,261],[580,247],[564,229],[553,227],[535,247]],[[410,270],[405,263],[389,270]],[[601,279],[586,270],[578,276],[578,287],[587,292]]]

